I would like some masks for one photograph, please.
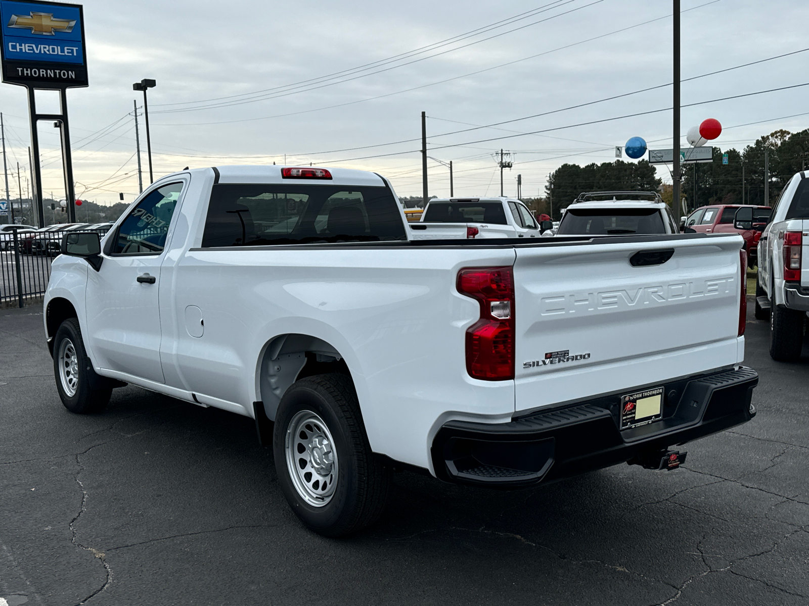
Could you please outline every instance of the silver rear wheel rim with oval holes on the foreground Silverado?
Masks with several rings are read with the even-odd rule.
[[[323,507],[337,487],[337,450],[326,423],[311,410],[301,410],[286,428],[286,469],[301,499]]]

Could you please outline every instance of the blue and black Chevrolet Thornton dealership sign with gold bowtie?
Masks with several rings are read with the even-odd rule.
[[[0,0],[2,81],[36,88],[87,86],[79,4]]]

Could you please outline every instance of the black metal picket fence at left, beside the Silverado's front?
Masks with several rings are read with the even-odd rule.
[[[0,306],[22,307],[27,299],[44,295],[61,237],[60,232],[0,234]]]

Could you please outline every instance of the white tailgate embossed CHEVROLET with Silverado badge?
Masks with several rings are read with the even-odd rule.
[[[603,242],[517,247],[515,410],[743,360],[738,234]],[[672,249],[662,264],[630,263]]]

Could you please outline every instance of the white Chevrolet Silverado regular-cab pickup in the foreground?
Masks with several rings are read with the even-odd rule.
[[[255,419],[327,536],[379,516],[392,469],[671,469],[672,444],[755,414],[738,234],[419,241],[374,173],[223,166],[62,246],[44,328],[64,405],[131,383]]]

